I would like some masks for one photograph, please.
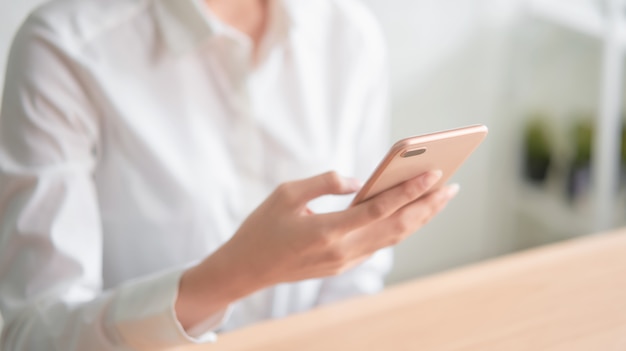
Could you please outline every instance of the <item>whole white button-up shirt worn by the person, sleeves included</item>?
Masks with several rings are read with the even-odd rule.
[[[199,0],[61,0],[28,18],[0,114],[5,350],[159,350],[381,289],[388,250],[188,333],[176,320],[185,268],[279,183],[364,179],[387,147],[371,15],[355,0],[271,8],[254,65],[250,40]]]

